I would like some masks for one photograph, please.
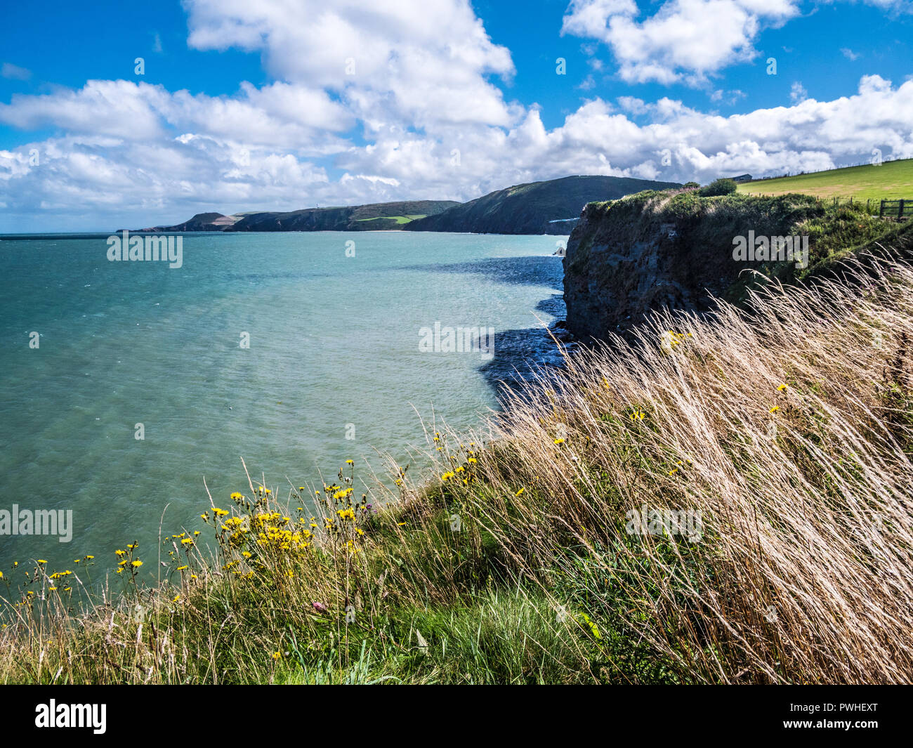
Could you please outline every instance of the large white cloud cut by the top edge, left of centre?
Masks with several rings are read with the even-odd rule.
[[[375,127],[506,126],[517,112],[490,74],[509,50],[461,0],[191,0],[188,44],[260,51],[278,79],[331,90]]]

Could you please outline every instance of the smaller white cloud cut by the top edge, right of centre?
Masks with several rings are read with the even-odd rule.
[[[666,0],[655,15],[638,20],[634,0],[572,0],[561,34],[611,47],[618,74],[629,83],[699,85],[754,58],[762,26],[781,26],[798,13],[796,0]]]

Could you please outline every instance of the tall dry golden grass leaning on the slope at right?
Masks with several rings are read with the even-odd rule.
[[[507,408],[509,449],[477,476],[534,490],[477,511],[520,574],[586,558],[614,586],[585,585],[589,616],[683,679],[913,680],[911,289],[882,266],[771,291],[752,315],[657,314],[636,353],[580,353]],[[699,511],[703,538],[632,543],[624,511],[644,504]]]

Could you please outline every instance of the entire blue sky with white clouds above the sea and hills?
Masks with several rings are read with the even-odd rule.
[[[0,232],[913,157],[913,0],[8,4]]]

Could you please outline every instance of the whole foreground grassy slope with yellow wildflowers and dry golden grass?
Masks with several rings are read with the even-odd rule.
[[[159,589],[129,544],[2,570],[0,682],[910,682],[911,341],[897,265],[654,314],[430,481],[201,497]]]

